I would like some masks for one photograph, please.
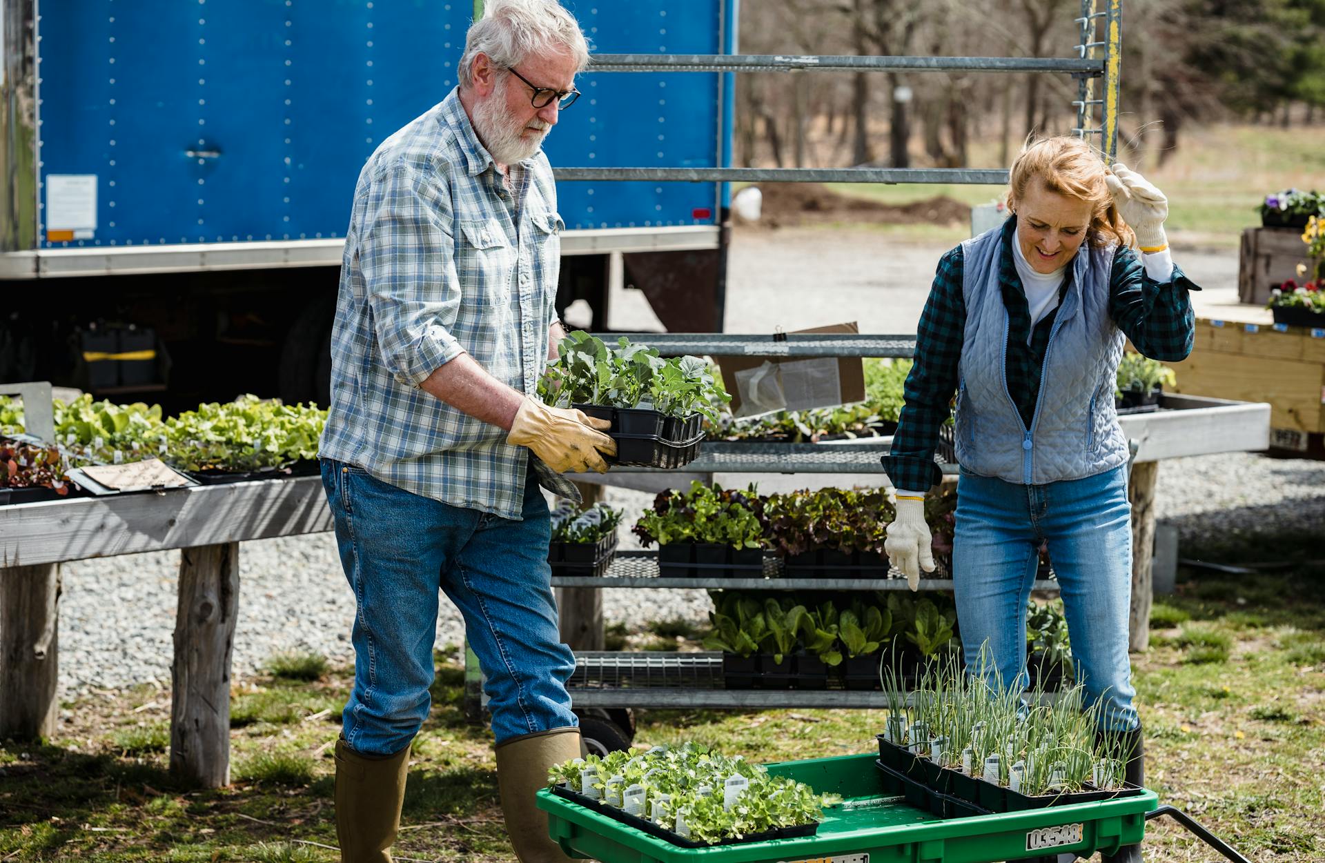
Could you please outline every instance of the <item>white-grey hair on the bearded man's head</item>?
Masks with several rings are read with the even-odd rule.
[[[575,58],[576,74],[588,66],[588,44],[574,16],[556,0],[488,0],[484,17],[465,36],[456,70],[460,87],[473,83],[474,56],[488,54],[498,69],[518,66],[541,50],[559,49]]]

